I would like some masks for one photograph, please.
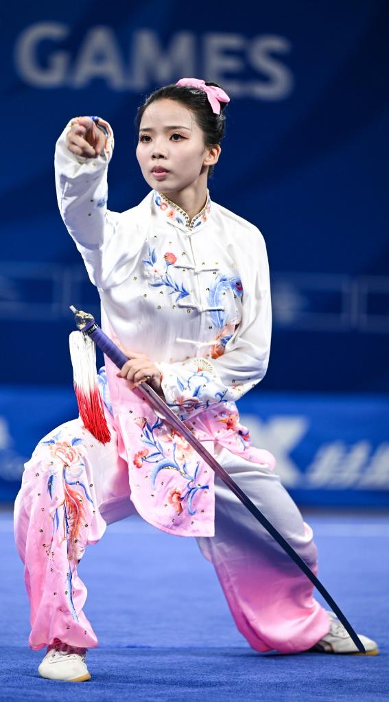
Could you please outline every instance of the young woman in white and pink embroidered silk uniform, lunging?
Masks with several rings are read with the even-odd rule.
[[[103,329],[129,360],[117,373],[107,359],[100,375],[110,441],[95,439],[81,419],[56,428],[27,463],[16,499],[29,646],[47,647],[43,677],[91,677],[85,654],[98,642],[82,611],[77,564],[107,524],[135,512],[197,538],[256,651],[357,652],[308,579],[137,388],[147,379],[316,571],[312,531],[272,472],[273,456],[251,446],[235,405],[265,375],[271,311],[261,233],[207,190],[228,101],[197,79],[147,98],[136,157],[151,191],[123,213],[107,210],[110,125],[72,119],[57,143],[62,218],[98,287]]]

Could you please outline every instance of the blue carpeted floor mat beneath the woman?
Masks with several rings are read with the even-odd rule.
[[[319,548],[320,576],[380,656],[258,654],[239,634],[213,567],[196,541],[150,527],[139,517],[112,524],[89,547],[79,573],[84,609],[100,645],[88,652],[92,680],[42,680],[44,651],[30,651],[22,563],[12,516],[0,515],[2,604],[0,699],[323,702],[388,699],[389,519],[306,517]],[[320,598],[318,597],[320,600]]]

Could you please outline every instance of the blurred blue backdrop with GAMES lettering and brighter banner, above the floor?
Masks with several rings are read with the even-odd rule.
[[[389,507],[388,19],[384,0],[1,12],[0,502],[77,416],[68,306],[98,315],[55,200],[55,140],[79,114],[110,121],[109,207],[134,206],[136,107],[199,77],[231,97],[211,197],[261,229],[270,261],[270,366],[242,419],[301,506]]]

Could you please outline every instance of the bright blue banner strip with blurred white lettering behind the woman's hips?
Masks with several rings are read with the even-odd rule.
[[[388,398],[250,392],[238,406],[298,504],[389,507]],[[0,407],[0,502],[10,502],[37,442],[77,416],[77,403],[71,389],[4,386]]]

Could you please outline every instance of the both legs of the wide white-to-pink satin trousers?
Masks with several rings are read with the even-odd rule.
[[[78,564],[86,545],[99,541],[107,524],[136,512],[128,466],[119,456],[113,426],[110,431],[110,443],[99,444],[80,419],[72,420],[42,439],[25,465],[15,501],[15,541],[25,563],[32,649],[55,640],[74,647],[98,645],[82,611],[86,586]],[[64,479],[63,465],[72,451],[64,437],[71,442],[80,432],[85,437],[82,467],[71,470],[68,461]],[[53,436],[62,442],[55,442],[47,465]],[[279,477],[217,444],[213,454],[316,573],[312,530]],[[215,536],[197,538],[197,543],[215,567],[237,628],[253,649],[305,651],[328,633],[329,616],[312,597],[308,578],[218,477]]]

